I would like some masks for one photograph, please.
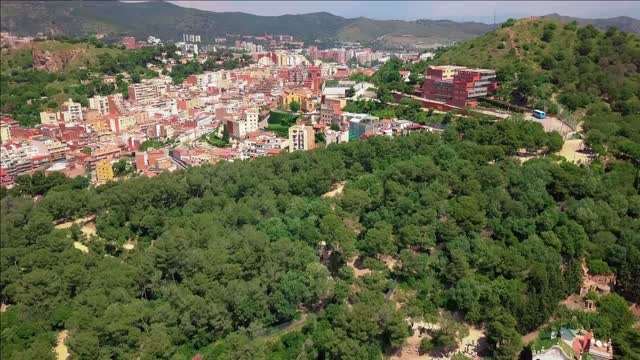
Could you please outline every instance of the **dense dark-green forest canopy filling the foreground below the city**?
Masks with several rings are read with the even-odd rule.
[[[546,136],[533,122],[457,119],[442,136],[95,189],[21,177],[0,204],[9,306],[0,355],[52,359],[55,332],[66,329],[74,359],[379,359],[403,345],[408,316],[452,311],[487,329],[493,358],[512,359],[521,334],[579,288],[583,257],[605,262],[619,293],[640,300],[636,170],[511,157],[544,150]],[[340,181],[341,195],[321,197]],[[96,235],[54,228],[91,214]],[[353,256],[369,274],[354,275]],[[393,279],[398,296],[385,297]],[[588,326],[613,338],[618,358],[637,359],[629,310],[609,305],[624,301],[598,301]],[[459,325],[439,330],[434,348],[455,344]]]

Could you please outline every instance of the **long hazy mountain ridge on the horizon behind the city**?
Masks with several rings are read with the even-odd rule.
[[[282,16],[216,13],[162,1],[3,1],[0,10],[2,31],[23,35],[105,33],[179,40],[183,33],[197,33],[206,40],[226,34],[270,33],[291,34],[306,42],[333,39],[428,46],[468,39],[493,29],[492,25],[475,22],[347,19],[327,12]]]

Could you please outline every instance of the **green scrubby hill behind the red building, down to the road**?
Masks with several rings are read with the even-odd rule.
[[[436,63],[497,70],[497,97],[582,122],[589,145],[640,159],[640,36],[524,19],[461,43]]]

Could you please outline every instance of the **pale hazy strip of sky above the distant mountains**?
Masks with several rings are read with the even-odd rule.
[[[491,23],[509,17],[559,13],[606,18],[640,18],[636,1],[171,1],[184,7],[211,11],[241,11],[257,15],[303,14],[327,11],[344,17],[374,19],[449,19]]]

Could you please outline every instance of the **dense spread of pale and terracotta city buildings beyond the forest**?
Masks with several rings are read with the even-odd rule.
[[[153,79],[131,83],[131,76],[126,73],[90,75],[105,84],[115,84],[117,77],[122,77],[130,83],[127,99],[120,93],[96,95],[88,99],[87,107],[69,99],[59,111],[40,113],[41,123],[34,128],[23,128],[4,118],[0,123],[0,181],[10,186],[16,176],[36,170],[69,175],[90,173],[93,181],[109,181],[113,176],[111,164],[131,153],[136,153],[133,162],[138,172],[154,176],[187,165],[310,150],[316,145],[318,133],[324,134],[326,144],[336,144],[373,135],[403,135],[413,129],[401,121],[375,122],[362,114],[343,112],[350,100],[375,96],[373,84],[349,80],[354,73],[370,76],[375,70],[353,68],[353,61],[372,62],[386,54],[358,44],[328,50],[312,46],[304,54],[300,49],[291,49],[301,45],[291,36],[243,36],[236,45],[251,52],[253,64],[204,71],[173,84],[170,76],[162,74],[163,70],[171,72],[178,61],[204,63],[210,57],[195,54],[197,50],[192,45],[199,45],[195,34],[186,40],[181,45],[181,59],[163,54],[158,63],[145,65],[158,74]],[[226,39],[220,41],[221,45],[216,46],[224,48]],[[123,44],[138,48],[155,46],[160,41],[149,37],[138,42],[129,37],[123,39]],[[223,65],[224,60],[218,59],[216,64]],[[298,113],[308,125],[287,128],[289,124],[285,124],[278,131],[268,131],[270,111],[289,110],[294,101],[300,104]],[[226,147],[218,148],[203,140],[214,131],[221,136],[225,126],[230,135]],[[173,156],[169,156],[168,146],[139,151],[147,140],[174,144]]]

